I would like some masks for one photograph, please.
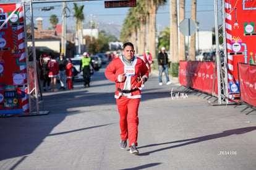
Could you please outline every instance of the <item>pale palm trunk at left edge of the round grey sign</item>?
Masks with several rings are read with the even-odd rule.
[[[185,18],[185,0],[179,0],[179,22]],[[179,33],[179,61],[186,59],[185,36]]]

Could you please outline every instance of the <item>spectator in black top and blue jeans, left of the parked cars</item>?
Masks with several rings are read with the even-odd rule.
[[[59,82],[61,83],[61,87],[59,89],[65,90],[66,88],[66,66],[67,60],[64,59],[64,54],[59,54]]]

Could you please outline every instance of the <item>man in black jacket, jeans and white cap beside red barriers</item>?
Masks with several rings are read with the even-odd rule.
[[[161,48],[161,52],[158,54],[158,70],[159,70],[159,85],[163,85],[162,82],[162,75],[163,72],[166,77],[166,85],[170,85],[171,82],[169,80],[169,73],[168,73],[168,54],[165,53],[165,48]]]

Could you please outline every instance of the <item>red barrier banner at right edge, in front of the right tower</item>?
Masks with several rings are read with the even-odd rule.
[[[256,107],[256,66],[238,64],[241,101]]]

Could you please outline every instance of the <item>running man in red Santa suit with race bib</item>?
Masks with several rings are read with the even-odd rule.
[[[116,82],[117,108],[120,115],[122,149],[127,147],[129,140],[130,153],[137,154],[138,138],[138,109],[143,84],[148,79],[148,68],[145,62],[135,57],[134,45],[130,42],[123,45],[123,56],[113,59],[105,70],[107,79]]]

